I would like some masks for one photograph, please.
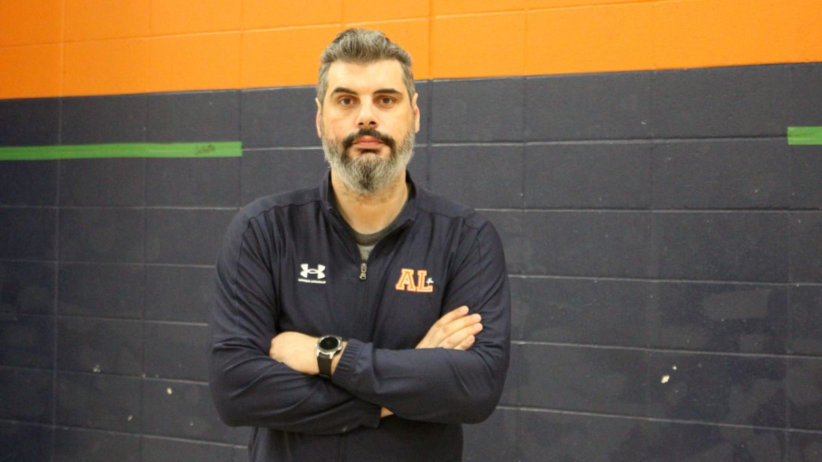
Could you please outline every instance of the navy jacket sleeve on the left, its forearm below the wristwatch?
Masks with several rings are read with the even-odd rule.
[[[270,240],[242,212],[219,252],[211,317],[210,390],[231,426],[335,434],[377,427],[380,406],[269,358],[277,316]]]

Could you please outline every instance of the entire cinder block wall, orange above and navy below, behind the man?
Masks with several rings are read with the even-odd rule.
[[[0,27],[0,146],[243,155],[0,161],[3,457],[246,459],[205,384],[215,250],[239,206],[326,171],[299,85],[360,21],[417,58],[413,178],[506,245],[512,366],[496,413],[466,426],[466,460],[822,457],[822,146],[785,138],[822,120],[807,16],[115,3],[2,3],[0,25],[21,18]]]

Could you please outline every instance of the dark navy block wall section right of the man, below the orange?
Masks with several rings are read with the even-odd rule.
[[[431,186],[492,217],[511,272],[515,360],[477,460],[822,456],[822,150],[778,122],[818,119],[819,77],[433,82]]]

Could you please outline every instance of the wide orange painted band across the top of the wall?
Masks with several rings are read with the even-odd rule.
[[[822,62],[820,0],[4,0],[0,98],[314,85],[345,27],[419,79]]]

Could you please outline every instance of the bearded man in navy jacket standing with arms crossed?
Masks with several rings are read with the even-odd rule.
[[[486,219],[406,173],[419,130],[408,53],[346,30],[321,57],[330,174],[233,219],[210,348],[220,418],[252,460],[460,460],[496,407],[510,300]]]

